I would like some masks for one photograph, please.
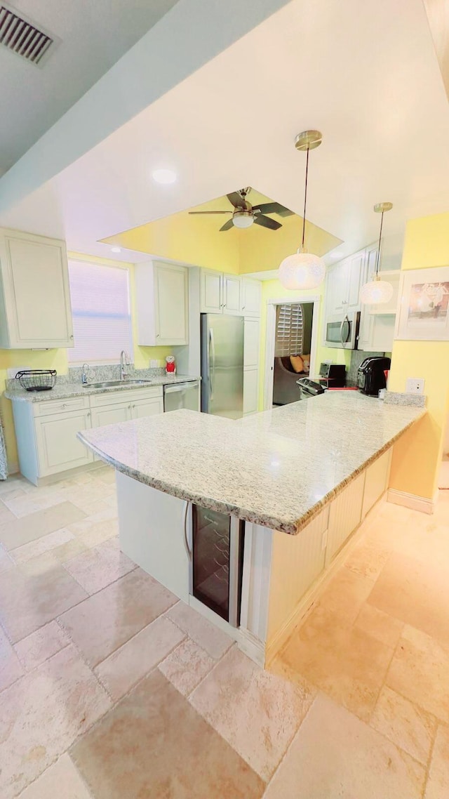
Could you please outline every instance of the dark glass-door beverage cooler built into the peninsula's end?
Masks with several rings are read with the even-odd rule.
[[[244,522],[191,507],[190,593],[234,627],[240,624]]]

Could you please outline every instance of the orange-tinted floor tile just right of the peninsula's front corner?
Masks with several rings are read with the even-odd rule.
[[[340,617],[318,606],[292,635],[280,660],[368,720],[392,653],[364,630],[340,622]]]

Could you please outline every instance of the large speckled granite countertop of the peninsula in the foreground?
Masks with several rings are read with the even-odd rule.
[[[326,392],[237,421],[171,411],[78,437],[141,483],[295,535],[425,413]]]

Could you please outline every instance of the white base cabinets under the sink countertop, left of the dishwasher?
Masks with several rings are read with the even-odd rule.
[[[78,441],[79,431],[163,411],[161,387],[36,403],[13,400],[20,471],[37,486],[53,475],[89,466],[97,458]]]

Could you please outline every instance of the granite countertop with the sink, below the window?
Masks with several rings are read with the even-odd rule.
[[[138,375],[133,375],[134,380],[138,380]],[[136,391],[141,388],[154,388],[154,386],[165,386],[176,383],[188,383],[192,380],[201,380],[200,377],[190,377],[187,375],[158,375],[151,378],[143,378],[145,384],[124,383],[123,385],[109,386],[109,388],[92,388],[87,384],[83,386],[81,381],[70,382],[58,379],[54,388],[49,392],[27,392],[19,384],[18,380],[10,380],[4,396],[7,400],[22,400],[22,402],[46,402],[46,400],[67,400],[70,397],[88,396],[89,394],[108,394],[109,392]],[[98,381],[100,382],[100,381]],[[17,386],[15,385],[17,383]],[[11,385],[12,384],[12,385]]]

